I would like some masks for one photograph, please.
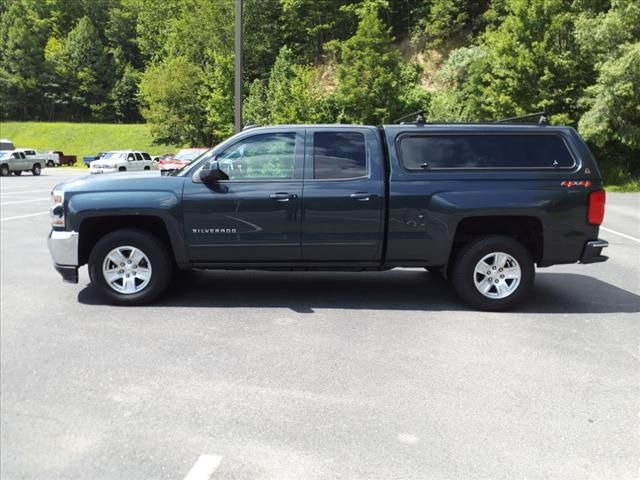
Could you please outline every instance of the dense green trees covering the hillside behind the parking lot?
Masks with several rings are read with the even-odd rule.
[[[640,178],[638,0],[245,0],[245,123],[547,109]],[[233,0],[0,0],[0,116],[233,132]],[[4,132],[3,135],[7,136]]]

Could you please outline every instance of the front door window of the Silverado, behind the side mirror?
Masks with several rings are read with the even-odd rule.
[[[295,133],[254,135],[218,155],[220,169],[230,180],[293,178]]]

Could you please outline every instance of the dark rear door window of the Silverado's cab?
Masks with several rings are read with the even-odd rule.
[[[367,153],[362,133],[313,134],[313,178],[358,178],[366,175]]]

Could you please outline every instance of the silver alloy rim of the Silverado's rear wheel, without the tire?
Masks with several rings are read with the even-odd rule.
[[[473,283],[487,298],[506,298],[520,285],[522,271],[508,253],[492,252],[482,257],[473,270]]]

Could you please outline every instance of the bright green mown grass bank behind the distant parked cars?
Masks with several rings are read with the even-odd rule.
[[[154,145],[146,124],[70,122],[0,122],[0,137],[17,148],[62,150],[67,155],[93,156],[107,150],[142,150],[151,155],[174,153],[180,145]]]

